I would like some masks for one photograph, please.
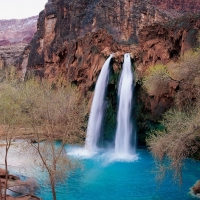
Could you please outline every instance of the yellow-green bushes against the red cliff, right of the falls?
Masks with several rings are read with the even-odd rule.
[[[198,89],[200,87],[199,63],[200,50],[187,51],[177,62],[171,61],[167,65],[149,67],[143,78],[143,86],[150,96],[161,96],[169,93],[170,82],[178,83],[181,88]],[[179,96],[179,91],[177,96]]]

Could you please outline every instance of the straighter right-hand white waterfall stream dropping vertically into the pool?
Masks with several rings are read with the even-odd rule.
[[[131,70],[131,59],[129,54],[125,54],[123,70],[118,86],[119,108],[117,114],[117,131],[115,136],[115,153],[121,156],[135,153],[131,145],[131,104],[133,93],[132,86],[133,74]]]

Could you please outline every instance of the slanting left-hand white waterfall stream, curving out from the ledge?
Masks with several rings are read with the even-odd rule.
[[[104,63],[101,73],[98,77],[94,98],[92,102],[92,108],[89,116],[89,123],[86,136],[85,148],[90,151],[96,151],[98,148],[99,140],[102,131],[102,121],[105,111],[105,94],[109,79],[109,64],[112,55]]]

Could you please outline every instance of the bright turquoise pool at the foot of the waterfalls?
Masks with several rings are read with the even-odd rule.
[[[109,162],[109,154],[99,153],[81,159],[82,169],[76,170],[65,183],[56,188],[58,200],[190,200],[189,188],[200,179],[200,162],[188,160],[183,184],[173,184],[169,176],[159,186],[152,173],[155,165],[147,150],[137,150],[138,160]],[[37,177],[40,190],[36,195],[52,200],[45,175]]]

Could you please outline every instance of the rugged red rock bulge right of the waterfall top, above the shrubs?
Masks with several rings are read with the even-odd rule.
[[[152,24],[139,32],[138,72],[149,66],[176,61],[187,50],[199,46],[200,15],[185,16],[164,24]]]

